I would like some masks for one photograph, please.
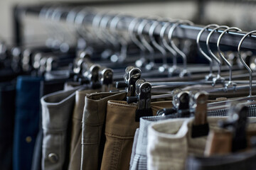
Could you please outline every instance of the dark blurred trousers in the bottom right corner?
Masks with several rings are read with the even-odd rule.
[[[190,156],[186,161],[186,170],[255,170],[255,160],[255,149],[247,152],[211,157]]]

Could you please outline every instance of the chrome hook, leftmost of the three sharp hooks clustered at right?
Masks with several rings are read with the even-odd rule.
[[[218,25],[217,24],[209,24],[208,26],[205,26],[204,28],[202,28],[200,30],[200,32],[198,33],[198,36],[196,38],[196,45],[198,47],[198,50],[201,52],[201,54],[204,57],[206,57],[206,60],[208,60],[208,62],[210,63],[210,73],[206,76],[206,81],[212,81],[213,78],[216,76],[213,74],[213,60],[208,55],[206,55],[206,52],[204,52],[202,50],[202,47],[199,42],[200,42],[201,35],[203,34],[203,31],[208,30],[208,28],[212,28],[212,27],[218,27]]]

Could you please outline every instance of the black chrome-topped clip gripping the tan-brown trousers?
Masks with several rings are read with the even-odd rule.
[[[139,122],[139,118],[153,115],[151,109],[151,84],[145,79],[138,79],[135,86],[137,96],[127,96],[127,103],[137,102],[138,108],[135,115],[135,121]]]

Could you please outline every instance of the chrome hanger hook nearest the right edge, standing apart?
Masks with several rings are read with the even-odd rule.
[[[245,61],[242,59],[241,57],[241,46],[242,46],[242,42],[245,40],[245,38],[247,38],[247,36],[251,35],[252,33],[256,33],[256,30],[252,30],[249,33],[245,34],[242,39],[240,40],[239,44],[238,44],[238,57],[240,59],[240,61],[242,62],[242,64],[244,65],[244,67],[248,70],[249,75],[250,75],[250,91],[249,91],[249,97],[252,96],[252,69],[250,69],[250,67],[248,67],[248,65],[245,63]]]

